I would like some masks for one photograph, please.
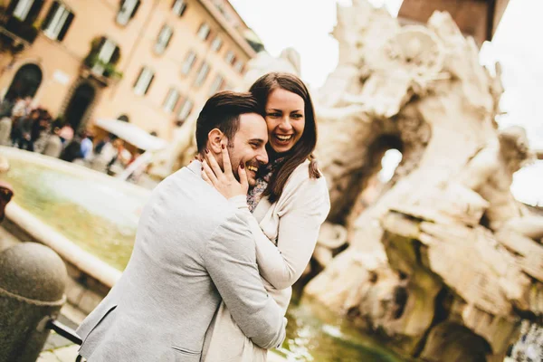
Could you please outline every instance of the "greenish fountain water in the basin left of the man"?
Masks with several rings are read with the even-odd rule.
[[[81,249],[124,270],[147,197],[37,163],[10,159],[10,166],[0,179],[14,187],[17,205]]]

